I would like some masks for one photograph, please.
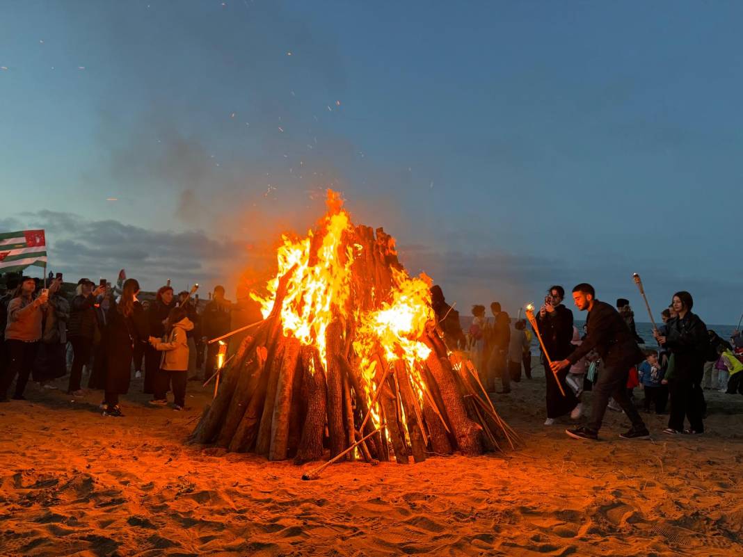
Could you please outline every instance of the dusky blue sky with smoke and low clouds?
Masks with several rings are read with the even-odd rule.
[[[738,1],[7,1],[0,231],[146,289],[260,278],[328,187],[461,313],[743,311]],[[107,201],[116,198],[117,201]]]

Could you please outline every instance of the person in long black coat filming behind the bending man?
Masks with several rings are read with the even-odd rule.
[[[567,358],[574,350],[573,340],[573,312],[568,310],[562,300],[565,299],[565,289],[558,284],[550,287],[545,296],[545,303],[536,315],[536,325],[542,335],[542,342],[550,359],[557,362]],[[542,353],[542,365],[545,366],[545,381],[547,382],[547,420],[545,426],[551,426],[554,420],[568,414],[580,402],[574,394],[573,389],[568,387],[565,380],[568,378],[569,369],[563,369],[555,374],[548,369],[547,359]],[[562,385],[562,391],[559,389]],[[580,410],[579,410],[580,412]]]

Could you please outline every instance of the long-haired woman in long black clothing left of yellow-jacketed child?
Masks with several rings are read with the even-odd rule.
[[[117,303],[111,297],[108,307],[103,339],[106,343],[104,416],[123,416],[119,408],[119,395],[129,391],[134,344],[147,338],[144,321],[141,319],[142,304],[137,301],[139,290],[139,283],[134,278],[127,278],[120,301]]]

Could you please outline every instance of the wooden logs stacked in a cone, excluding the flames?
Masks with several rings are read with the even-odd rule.
[[[392,270],[402,270],[394,240],[382,229],[375,235],[356,227],[346,245],[357,249],[348,307],[380,307],[389,298]],[[295,463],[319,460],[326,449],[334,457],[369,434],[345,458],[406,464],[411,456],[420,462],[454,452],[479,455],[504,449],[504,443],[513,447],[516,434],[499,418],[473,365],[447,350],[435,323],[419,339],[431,352],[416,363],[415,373],[401,360],[387,362],[380,351],[371,389],[354,354],[357,324],[340,317],[354,311],[337,308],[325,332],[324,359],[317,348],[285,336],[281,311],[292,273],[279,280],[270,315],[222,371],[193,442]]]

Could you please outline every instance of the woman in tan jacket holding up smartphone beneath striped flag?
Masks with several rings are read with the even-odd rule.
[[[36,281],[25,276],[16,288],[7,306],[7,325],[5,326],[5,349],[8,362],[4,377],[0,378],[0,402],[7,402],[7,390],[18,376],[13,400],[25,400],[28,377],[33,360],[42,338],[42,320],[47,309],[49,291],[44,288],[36,299],[33,293]]]

